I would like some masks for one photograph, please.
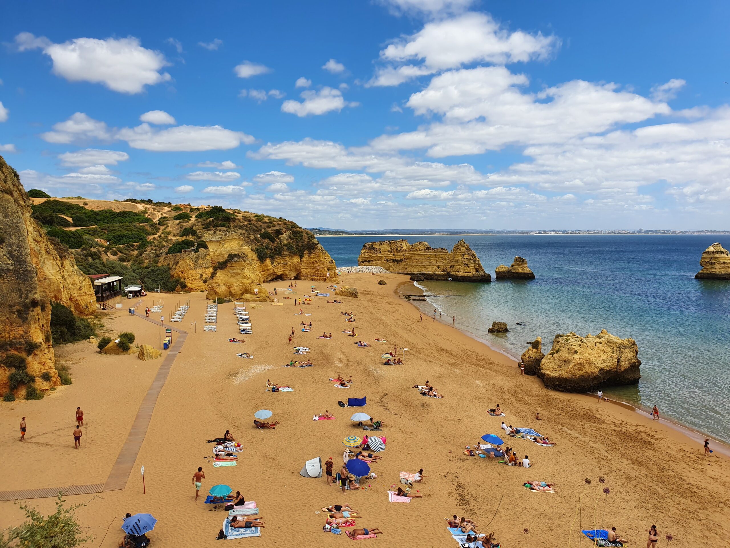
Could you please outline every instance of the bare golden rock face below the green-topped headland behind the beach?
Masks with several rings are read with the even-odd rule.
[[[261,283],[307,279],[338,283],[334,261],[320,244],[312,251],[258,259],[242,235],[202,233],[207,249],[198,253],[167,255],[162,264],[191,291],[207,291],[210,299],[269,300]]]

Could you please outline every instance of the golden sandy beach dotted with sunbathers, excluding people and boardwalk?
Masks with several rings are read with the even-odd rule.
[[[388,285],[377,285],[378,279]],[[149,534],[154,546],[215,546],[226,512],[210,511],[202,499],[193,502],[192,475],[199,466],[206,474],[203,498],[213,485],[228,484],[258,504],[266,528],[259,538],[237,540],[242,544],[347,543],[344,535],[322,531],[321,507],[345,503],[364,516],[356,520],[358,528],[384,531],[377,540],[365,542],[387,546],[455,546],[443,519],[453,514],[466,515],[485,533],[493,531],[505,548],[578,546],[579,529],[594,526],[615,527],[636,547],[645,546],[650,525],[658,528],[660,547],[666,545],[666,534],[673,537],[672,547],[727,544],[730,463],[725,457],[718,452],[704,457],[701,443],[631,408],[545,389],[539,379],[520,375],[510,357],[479,340],[426,316],[420,322],[418,310],[396,292],[406,282],[404,275],[345,274],[342,283],[356,286],[360,298],[337,297],[341,305],[314,297],[308,305],[294,306],[293,298],[282,299],[279,291],[281,306],[262,303],[253,308],[247,303],[253,335],[238,335],[233,303],[219,305],[218,331],[204,332],[203,293],[162,296],[167,318],[175,302],[190,299],[185,320],[172,324],[189,335],[158,397],[126,488],[68,498],[88,501],[77,511],[93,536],[88,546],[116,546],[127,511],[149,512],[159,520]],[[312,283],[298,281],[292,297],[304,297]],[[282,289],[288,284],[266,286]],[[325,283],[315,285],[327,292]],[[139,305],[139,313],[145,304]],[[295,315],[299,308],[311,316]],[[356,322],[346,323],[343,311],[353,312]],[[130,330],[137,342],[158,344],[159,328],[129,316],[126,308],[103,321],[107,330]],[[191,321],[197,321],[196,331],[191,331]],[[312,321],[312,331],[301,332],[301,321]],[[296,337],[290,344],[292,327]],[[352,327],[355,338],[342,333]],[[322,332],[331,332],[333,338],[318,338]],[[228,343],[231,337],[246,342]],[[358,348],[356,340],[370,346]],[[309,347],[310,354],[295,356],[295,344]],[[404,365],[383,365],[380,355],[394,345],[410,349]],[[253,359],[237,357],[243,351]],[[57,353],[69,364],[74,384],[43,400],[0,405],[3,490],[104,482],[162,362],[142,362],[135,355],[102,356],[88,342]],[[311,359],[314,367],[282,367],[297,358]],[[335,388],[328,379],[338,374],[353,376],[353,387]],[[267,392],[267,379],[291,386],[293,392]],[[412,388],[426,380],[444,397],[423,397]],[[367,397],[367,406],[339,408],[337,401],[347,397]],[[496,403],[506,416],[487,413]],[[85,435],[76,450],[72,430],[77,406],[85,411]],[[255,429],[253,413],[258,409],[273,412],[271,420],[281,422],[276,430]],[[336,419],[312,421],[326,409]],[[324,478],[301,477],[302,465],[313,457],[332,457],[334,471],[339,470],[342,438],[364,434],[350,421],[357,411],[384,423],[387,449],[372,465],[377,479],[363,484],[366,490],[343,495]],[[542,421],[534,420],[537,411]],[[28,422],[23,444],[18,441],[21,416]],[[529,455],[533,465],[528,469],[464,455],[464,447],[474,446],[481,435],[501,435],[502,420],[533,428],[556,445],[506,438],[520,458]],[[244,449],[237,466],[214,468],[212,444],[206,441],[226,429]],[[419,468],[426,477],[413,492],[418,490],[423,498],[389,503],[387,491],[400,485],[399,472]],[[605,483],[599,482],[601,477]],[[531,492],[523,487],[528,481],[554,482],[556,492]],[[31,504],[53,511],[53,499]],[[22,517],[17,504],[0,502],[0,528],[17,525]]]

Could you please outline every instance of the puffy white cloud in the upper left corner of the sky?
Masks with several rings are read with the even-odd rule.
[[[53,74],[70,82],[101,83],[112,91],[139,94],[145,85],[167,82],[162,72],[165,56],[142,47],[139,39],[76,38],[54,44],[45,37],[21,32],[15,37],[19,51],[40,49],[53,61]]]

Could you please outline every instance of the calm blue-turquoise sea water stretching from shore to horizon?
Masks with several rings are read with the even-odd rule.
[[[656,404],[662,414],[730,442],[730,282],[694,279],[702,251],[718,238],[730,246],[712,235],[465,236],[492,276],[497,265],[510,265],[520,255],[537,279],[424,281],[419,285],[430,304],[414,304],[456,315],[458,327],[514,356],[537,335],[545,353],[556,333],[586,335],[605,328],[634,338],[642,379],[605,389],[606,395]],[[363,243],[388,239],[322,237],[320,243],[345,267],[357,265]],[[459,239],[407,237],[449,250]],[[489,334],[492,321],[506,321],[510,332]]]

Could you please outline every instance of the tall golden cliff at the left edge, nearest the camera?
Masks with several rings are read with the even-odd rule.
[[[31,219],[18,174],[0,156],[0,394],[22,395],[23,371],[39,389],[61,384],[51,346],[51,300],[79,313],[96,308],[91,281]]]

